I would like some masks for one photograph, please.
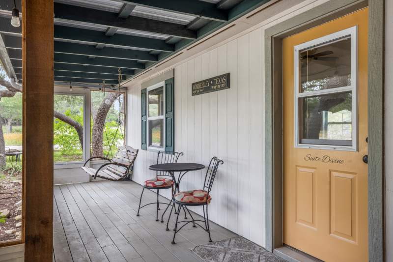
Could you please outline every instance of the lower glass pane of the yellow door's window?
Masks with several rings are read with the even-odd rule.
[[[352,93],[300,98],[301,143],[352,145]]]

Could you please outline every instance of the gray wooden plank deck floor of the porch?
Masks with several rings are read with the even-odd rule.
[[[172,245],[173,231],[155,221],[154,205],[136,216],[141,190],[132,181],[55,186],[54,261],[201,262],[189,249],[208,243],[207,233],[189,224]],[[155,199],[155,193],[145,190],[143,202]],[[169,228],[173,225],[171,218]],[[214,223],[211,232],[213,240],[236,235]]]

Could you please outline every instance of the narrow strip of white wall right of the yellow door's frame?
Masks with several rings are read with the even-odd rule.
[[[385,6],[385,239],[386,261],[393,261],[393,1]]]

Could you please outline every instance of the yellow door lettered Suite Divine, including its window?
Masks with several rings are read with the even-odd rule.
[[[283,40],[283,242],[368,261],[367,12]]]

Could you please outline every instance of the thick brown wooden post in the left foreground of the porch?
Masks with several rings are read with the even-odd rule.
[[[53,259],[54,3],[22,1],[25,261]]]

